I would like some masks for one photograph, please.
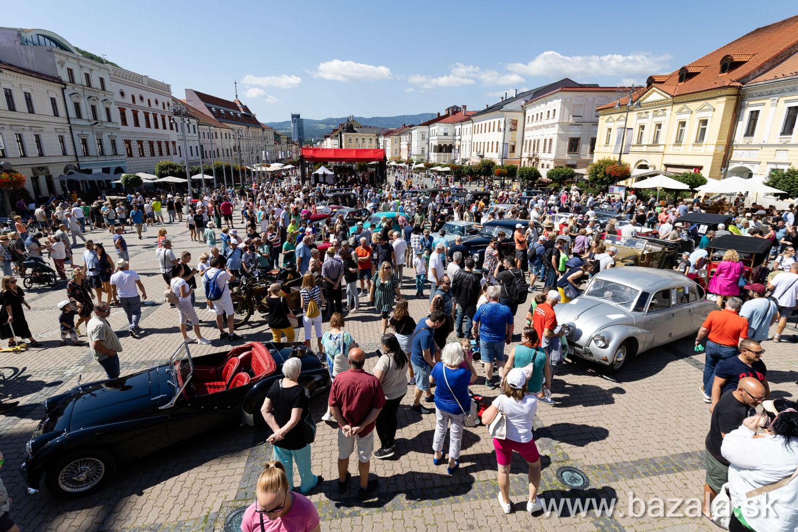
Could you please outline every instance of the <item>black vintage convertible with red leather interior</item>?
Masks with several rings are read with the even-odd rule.
[[[302,361],[298,383],[313,396],[330,373],[302,343],[251,342],[192,358],[182,344],[164,363],[119,379],[78,384],[45,400],[45,419],[26,444],[27,490],[61,497],[97,490],[117,464],[227,423],[265,426],[260,407],[282,363]]]

